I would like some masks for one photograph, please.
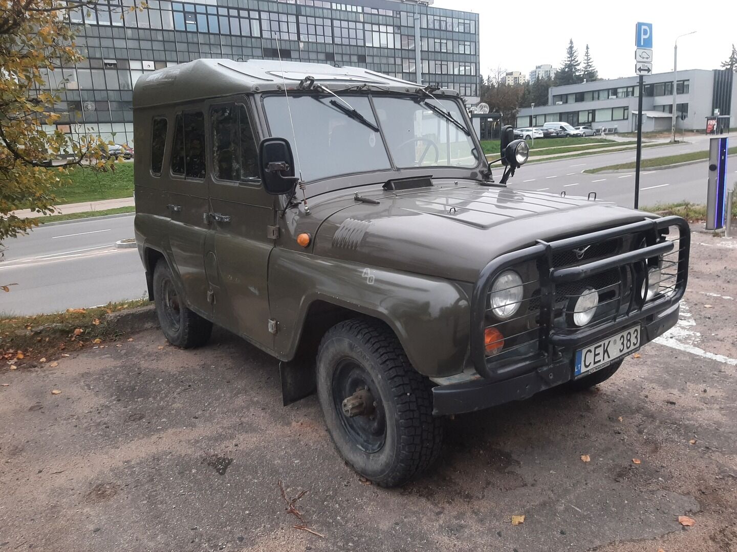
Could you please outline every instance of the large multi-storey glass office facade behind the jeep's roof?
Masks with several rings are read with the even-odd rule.
[[[147,7],[143,8],[140,3]],[[133,144],[133,85],[201,57],[338,63],[478,96],[478,14],[392,0],[100,0],[69,15],[86,59],[49,71],[62,132]],[[419,35],[415,22],[419,20]],[[83,130],[84,129],[84,130]],[[113,137],[114,135],[114,137]]]

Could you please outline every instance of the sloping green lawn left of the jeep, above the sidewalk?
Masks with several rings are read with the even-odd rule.
[[[111,171],[75,167],[69,171],[71,183],[53,190],[58,205],[99,199],[133,197],[133,163],[116,163]]]

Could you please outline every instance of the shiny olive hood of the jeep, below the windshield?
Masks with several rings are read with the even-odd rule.
[[[312,199],[322,223],[314,252],[329,258],[474,282],[503,253],[551,240],[642,220],[641,211],[585,197],[560,197],[472,181],[432,188]]]

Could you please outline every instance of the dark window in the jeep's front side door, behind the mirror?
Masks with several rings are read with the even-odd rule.
[[[213,107],[210,121],[215,177],[234,182],[257,178],[256,142],[245,106]]]

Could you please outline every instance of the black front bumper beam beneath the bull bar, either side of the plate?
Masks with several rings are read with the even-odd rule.
[[[661,314],[642,320],[643,340],[652,342],[678,322],[679,305],[674,305]],[[632,319],[629,324],[632,324]],[[613,332],[612,332],[613,333]],[[573,379],[573,361],[561,358],[544,371],[537,369],[503,381],[480,380],[433,387],[433,414],[463,414],[490,408],[513,400],[525,400],[532,395],[559,386]]]

